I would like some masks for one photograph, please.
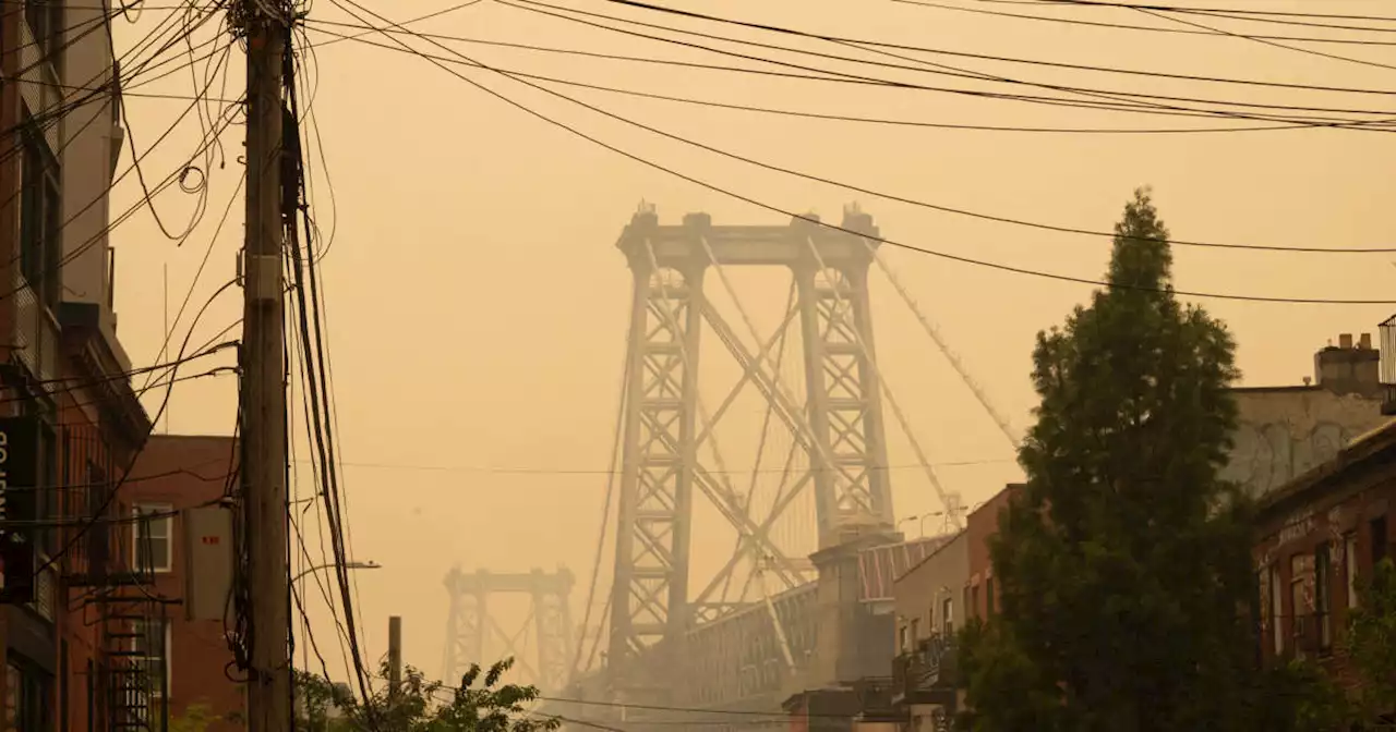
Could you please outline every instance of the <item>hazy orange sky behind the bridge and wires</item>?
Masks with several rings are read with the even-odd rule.
[[[684,21],[603,0],[557,0],[568,7],[625,15],[730,38],[821,53],[900,63],[845,46],[801,43],[789,36]],[[734,3],[664,0],[670,7],[768,22],[803,31],[1173,74],[1367,88],[1382,93],[1329,93],[1196,81],[1064,71],[963,57],[921,59],[1039,84],[1079,85],[1233,102],[1393,110],[1396,68],[1321,59],[1234,36],[1202,36],[1020,21],[891,0]],[[1168,26],[1121,8],[1047,8],[938,0],[981,8]],[[1202,0],[1191,0],[1201,4]],[[451,0],[364,0],[402,21],[452,6]],[[1231,0],[1230,7],[1375,14],[1374,0]],[[169,11],[145,10],[134,25],[119,20],[120,47]],[[311,7],[309,40],[318,45],[355,32],[318,21],[356,22],[335,4]],[[1192,18],[1198,22],[1199,18]],[[1201,20],[1233,32],[1308,35],[1304,26]],[[1173,28],[1185,28],[1171,25]],[[1392,25],[1396,28],[1396,25]],[[755,61],[588,28],[486,0],[412,26],[419,32],[597,53],[761,67]],[[656,31],[646,31],[656,32]],[[202,38],[212,38],[208,29]],[[659,35],[670,35],[658,32]],[[1354,35],[1350,38],[1382,38]],[[677,38],[677,36],[674,36]],[[300,36],[297,45],[306,42]],[[378,35],[364,36],[388,45]],[[694,40],[694,39],[690,39]],[[412,40],[423,52],[448,52]],[[1187,120],[1101,110],[1044,107],[910,88],[868,88],[751,74],[704,71],[445,42],[487,64],[530,74],[652,93],[758,105],[821,114],[949,124],[1018,127],[1160,128],[1235,127],[1245,123]],[[857,66],[828,59],[730,47],[769,59],[930,86],[1040,93],[934,74]],[[1396,67],[1396,49],[1307,45]],[[180,53],[174,49],[170,53]],[[902,52],[909,53],[909,52]],[[226,89],[236,98],[242,54],[232,56]],[[406,661],[440,672],[447,595],[441,584],[455,563],[468,569],[522,572],[565,563],[579,576],[577,620],[600,527],[604,471],[620,396],[630,273],[614,241],[641,199],[664,223],[705,211],[715,223],[785,223],[785,218],[685,183],[529,117],[422,57],[342,42],[318,49],[309,64],[313,88],[313,213],[332,233],[324,259],[328,333],[338,438],[353,554],[384,569],[355,574],[359,612],[371,658],[385,650],[387,616],[405,616]],[[786,211],[836,219],[859,201],[888,238],[1016,268],[1099,277],[1108,238],[1053,233],[928,211],[838,185],[811,183],[720,158],[597,116],[484,70],[458,73],[565,121],[607,144]],[[769,66],[764,68],[772,68]],[[787,70],[789,71],[789,70]],[[202,81],[198,82],[202,86]],[[188,96],[188,73],[138,89]],[[1110,230],[1138,185],[1153,185],[1174,237],[1279,247],[1390,247],[1389,174],[1396,146],[1382,132],[1273,130],[1209,134],[1043,134],[877,125],[796,119],[558,91],[667,132],[867,190],[1064,227]],[[140,149],[151,145],[188,102],[130,96],[127,113]],[[147,159],[147,177],[183,165],[200,138],[188,116]],[[209,171],[208,213],[180,247],[161,234],[149,212],[112,236],[117,251],[119,335],[140,364],[158,361],[169,280],[169,317],[190,290],[200,261],[212,254],[193,289],[190,312],[174,325],[184,337],[190,317],[233,276],[242,237],[242,204],[214,238],[218,219],[242,174],[242,128],[223,135],[226,166]],[[123,167],[130,162],[130,146]],[[332,190],[332,195],[331,195]],[[134,176],[119,187],[112,211],[137,201]],[[197,197],[166,192],[156,208],[170,229],[183,227]],[[1388,204],[1382,204],[1386,201]],[[927,315],[962,356],[990,397],[1019,428],[1034,395],[1027,374],[1034,335],[1083,303],[1089,286],[1007,273],[884,247],[885,255]],[[1180,290],[1297,298],[1396,301],[1396,255],[1293,254],[1175,248]],[[769,328],[779,315],[786,279],[743,275],[747,305]],[[716,283],[709,283],[709,291]],[[892,287],[874,277],[877,344],[882,371],[914,422],[916,436],[942,481],[967,503],[1019,475],[1007,441],[926,337]],[[1375,332],[1396,305],[1315,305],[1205,301],[1234,329],[1248,385],[1298,383],[1312,372],[1312,353],[1340,332]],[[239,290],[225,293],[197,323],[200,343],[240,317]],[[730,312],[730,311],[729,311]],[[734,314],[729,318],[740,322]],[[734,367],[709,339],[704,396],[722,399]],[[200,363],[200,369],[214,360]],[[163,393],[147,395],[154,413]],[[161,431],[226,434],[233,425],[230,376],[176,386]],[[725,421],[727,463],[751,466],[744,449],[759,428],[755,402]],[[297,404],[295,420],[302,422]],[[888,415],[889,463],[914,463]],[[302,456],[304,450],[302,449]],[[309,466],[293,487],[310,491]],[[896,514],[937,510],[919,470],[892,473]],[[314,516],[314,513],[311,513]],[[701,583],[732,549],[732,533],[702,516],[694,535]],[[793,541],[793,540],[792,540]],[[311,554],[320,556],[310,534]],[[610,558],[603,563],[609,573]],[[311,593],[315,594],[315,593]],[[500,605],[504,625],[519,605]],[[599,602],[597,602],[599,609]],[[331,657],[336,644],[324,602],[313,604],[315,636]],[[498,653],[498,647],[494,648]],[[342,668],[342,666],[339,666]]]

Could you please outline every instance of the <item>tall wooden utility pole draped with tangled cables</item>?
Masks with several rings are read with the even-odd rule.
[[[243,250],[242,488],[251,587],[248,732],[290,731],[290,580],[286,506],[286,388],[282,340],[282,63],[289,14],[281,0],[243,0],[247,33],[247,220]]]

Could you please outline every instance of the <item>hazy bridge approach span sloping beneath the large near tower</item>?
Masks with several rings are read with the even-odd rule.
[[[575,679],[547,704],[547,712],[606,724],[624,718],[631,725],[627,732],[645,721],[667,728],[702,719],[709,728],[711,718],[699,711],[779,715],[786,699],[799,692],[889,675],[892,580],[951,537],[867,533],[845,538],[812,556],[817,579],[690,629],[681,653],[655,648],[637,659],[652,680],[644,693],[616,689],[603,666]]]

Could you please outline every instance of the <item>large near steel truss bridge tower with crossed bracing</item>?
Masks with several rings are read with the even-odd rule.
[[[634,275],[634,294],[609,619],[607,665],[617,692],[644,696],[645,689],[664,685],[664,666],[639,668],[639,658],[676,668],[684,633],[733,609],[712,597],[743,556],[759,559],[786,587],[807,580],[800,562],[785,556],[769,538],[790,501],[783,498],[757,523],[726,471],[709,468],[698,457],[698,448],[712,438],[713,422],[736,396],[733,390],[715,413],[708,413],[699,397],[704,323],[743,367],[737,389],[752,383],[807,457],[810,470],[789,498],[812,484],[821,548],[839,544],[849,526],[893,528],[867,290],[877,236],[872,218],[857,206],[845,211],[836,229],[819,224],[812,215],[789,226],[713,226],[708,215],[690,213],[680,226],[660,226],[653,208],[642,206],[621,234],[617,247]],[[787,268],[799,293],[769,340],[755,333],[726,276],[726,268],[758,265]],[[705,298],[704,286],[713,280],[741,310],[745,335],[762,344],[757,353]],[[768,353],[794,321],[804,351],[803,404],[780,385]],[[691,601],[688,547],[695,489],[737,528],[741,548]],[[646,654],[651,648],[660,653]]]

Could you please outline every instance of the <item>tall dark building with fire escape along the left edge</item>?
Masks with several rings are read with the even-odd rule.
[[[159,729],[172,612],[137,563],[151,432],[116,336],[109,3],[0,7],[0,687],[17,732]],[[177,608],[176,608],[177,609]]]

